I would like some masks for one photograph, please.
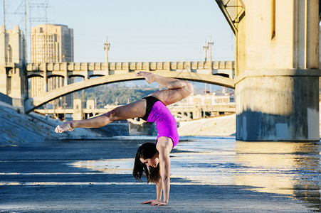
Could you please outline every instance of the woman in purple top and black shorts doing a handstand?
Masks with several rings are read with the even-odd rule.
[[[137,117],[147,122],[155,122],[158,131],[157,140],[155,143],[144,143],[138,148],[133,175],[137,180],[141,180],[142,175],[145,175],[147,182],[156,184],[156,200],[142,203],[167,205],[170,187],[169,153],[179,142],[179,135],[174,116],[166,106],[188,97],[193,92],[193,85],[190,82],[162,77],[151,72],[137,72],[136,76],[144,77],[149,84],[157,82],[167,89],[154,92],[137,102],[117,107],[91,119],[65,122],[56,127],[56,132],[73,131],[76,127],[99,128],[112,121]]]

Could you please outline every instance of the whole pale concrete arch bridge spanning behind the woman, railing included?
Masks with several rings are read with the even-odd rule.
[[[234,62],[110,62],[108,63],[30,63],[26,67],[28,80],[37,78],[42,88],[40,94],[24,102],[26,113],[43,104],[81,89],[112,82],[142,80],[136,72],[151,71],[164,77],[206,82],[234,88]],[[60,77],[60,87],[48,91],[48,80]],[[83,77],[83,82],[68,84],[72,77]],[[40,81],[39,81],[40,80]],[[28,81],[30,82],[30,81]],[[31,85],[32,87],[32,85]],[[39,89],[39,87],[38,87]]]

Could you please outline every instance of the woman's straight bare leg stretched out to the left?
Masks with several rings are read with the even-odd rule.
[[[140,99],[125,106],[117,107],[105,114],[91,119],[68,121],[56,127],[57,133],[64,131],[73,131],[76,127],[82,128],[100,128],[112,121],[132,119],[144,116],[146,112],[146,99]]]

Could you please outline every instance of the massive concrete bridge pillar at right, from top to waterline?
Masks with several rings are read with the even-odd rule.
[[[236,140],[319,141],[319,1],[243,1]]]

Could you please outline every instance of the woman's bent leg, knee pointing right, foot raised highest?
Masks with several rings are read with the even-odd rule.
[[[157,82],[167,89],[154,92],[149,96],[156,97],[165,105],[174,104],[189,96],[194,91],[194,87],[190,82],[177,80],[172,77],[162,77],[152,72],[137,72],[137,76],[142,76],[151,84]]]

